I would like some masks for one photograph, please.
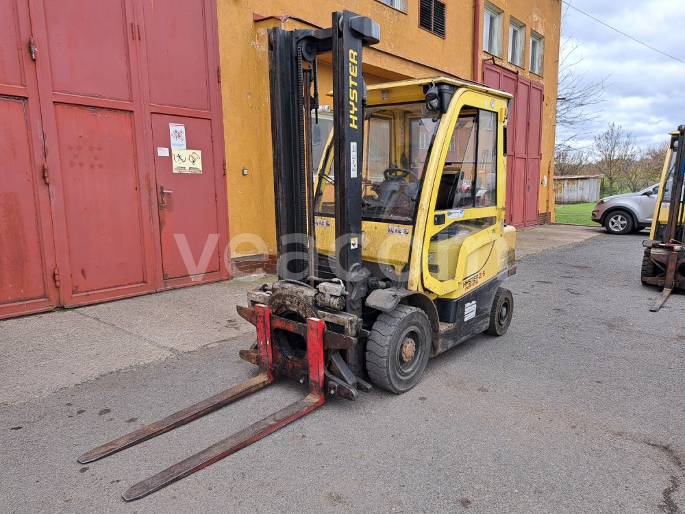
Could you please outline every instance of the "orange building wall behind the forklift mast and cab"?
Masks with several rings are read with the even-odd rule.
[[[482,27],[484,1],[480,3],[479,25]],[[551,212],[561,2],[498,0],[493,3],[504,11],[503,55],[508,55],[508,16],[511,14],[527,26],[525,68],[517,70],[545,87],[540,181],[547,175],[547,186],[540,185],[539,210],[540,213]],[[432,75],[473,78],[474,2],[447,1],[445,38],[419,27],[419,0],[408,0],[407,4],[408,12],[404,13],[377,0],[217,0],[229,235],[234,258],[275,254],[266,31],[275,26],[284,29],[328,27],[331,12],[347,9],[370,16],[381,27],[379,45],[364,49],[364,75],[369,84]],[[545,37],[543,77],[525,71],[529,67],[527,41],[531,28]],[[482,48],[482,28],[478,41]],[[485,52],[481,52],[481,57],[493,58]],[[323,61],[319,66],[320,90],[327,92],[332,87],[332,71],[325,59]],[[499,58],[495,58],[495,62],[516,69]],[[482,66],[479,66],[478,74],[480,81]],[[322,96],[322,103],[330,101],[329,97]],[[247,175],[243,169],[247,170]],[[253,268],[247,271],[253,271]]]

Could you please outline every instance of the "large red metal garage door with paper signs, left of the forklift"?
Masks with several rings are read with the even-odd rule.
[[[215,13],[0,0],[0,318],[228,277]]]

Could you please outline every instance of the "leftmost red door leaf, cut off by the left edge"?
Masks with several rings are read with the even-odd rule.
[[[25,0],[0,1],[0,319],[58,304],[36,69]]]

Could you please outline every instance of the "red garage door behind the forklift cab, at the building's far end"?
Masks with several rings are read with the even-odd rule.
[[[485,63],[483,82],[514,95],[507,140],[507,223],[536,225],[543,86],[490,62]]]

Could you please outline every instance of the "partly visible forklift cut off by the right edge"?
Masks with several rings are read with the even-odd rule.
[[[643,284],[663,288],[649,309],[653,312],[661,308],[673,289],[685,289],[685,125],[670,135],[649,240],[643,242],[640,278]]]

